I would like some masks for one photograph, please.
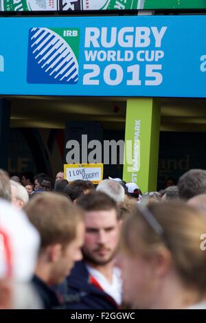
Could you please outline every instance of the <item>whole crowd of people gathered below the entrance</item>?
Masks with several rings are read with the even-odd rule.
[[[206,309],[206,170],[119,178],[0,170],[0,309]]]

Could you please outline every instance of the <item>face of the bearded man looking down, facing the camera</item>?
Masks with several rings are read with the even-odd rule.
[[[85,225],[84,260],[93,265],[111,262],[119,244],[120,224],[116,210],[85,212]]]

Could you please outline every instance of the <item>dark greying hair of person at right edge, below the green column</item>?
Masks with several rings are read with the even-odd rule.
[[[178,181],[178,192],[181,199],[190,199],[206,192],[206,170],[191,169],[185,172]]]

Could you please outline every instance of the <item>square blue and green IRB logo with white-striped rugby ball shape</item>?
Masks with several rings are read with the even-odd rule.
[[[79,38],[77,28],[31,28],[27,83],[75,85],[78,82]]]

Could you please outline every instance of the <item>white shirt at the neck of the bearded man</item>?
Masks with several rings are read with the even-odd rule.
[[[120,305],[122,303],[122,280],[120,278],[121,271],[119,268],[114,267],[113,269],[113,281],[112,283],[108,282],[106,277],[100,273],[100,271],[93,269],[92,267],[86,265],[89,274],[98,281],[102,289],[111,296],[115,302]]]

